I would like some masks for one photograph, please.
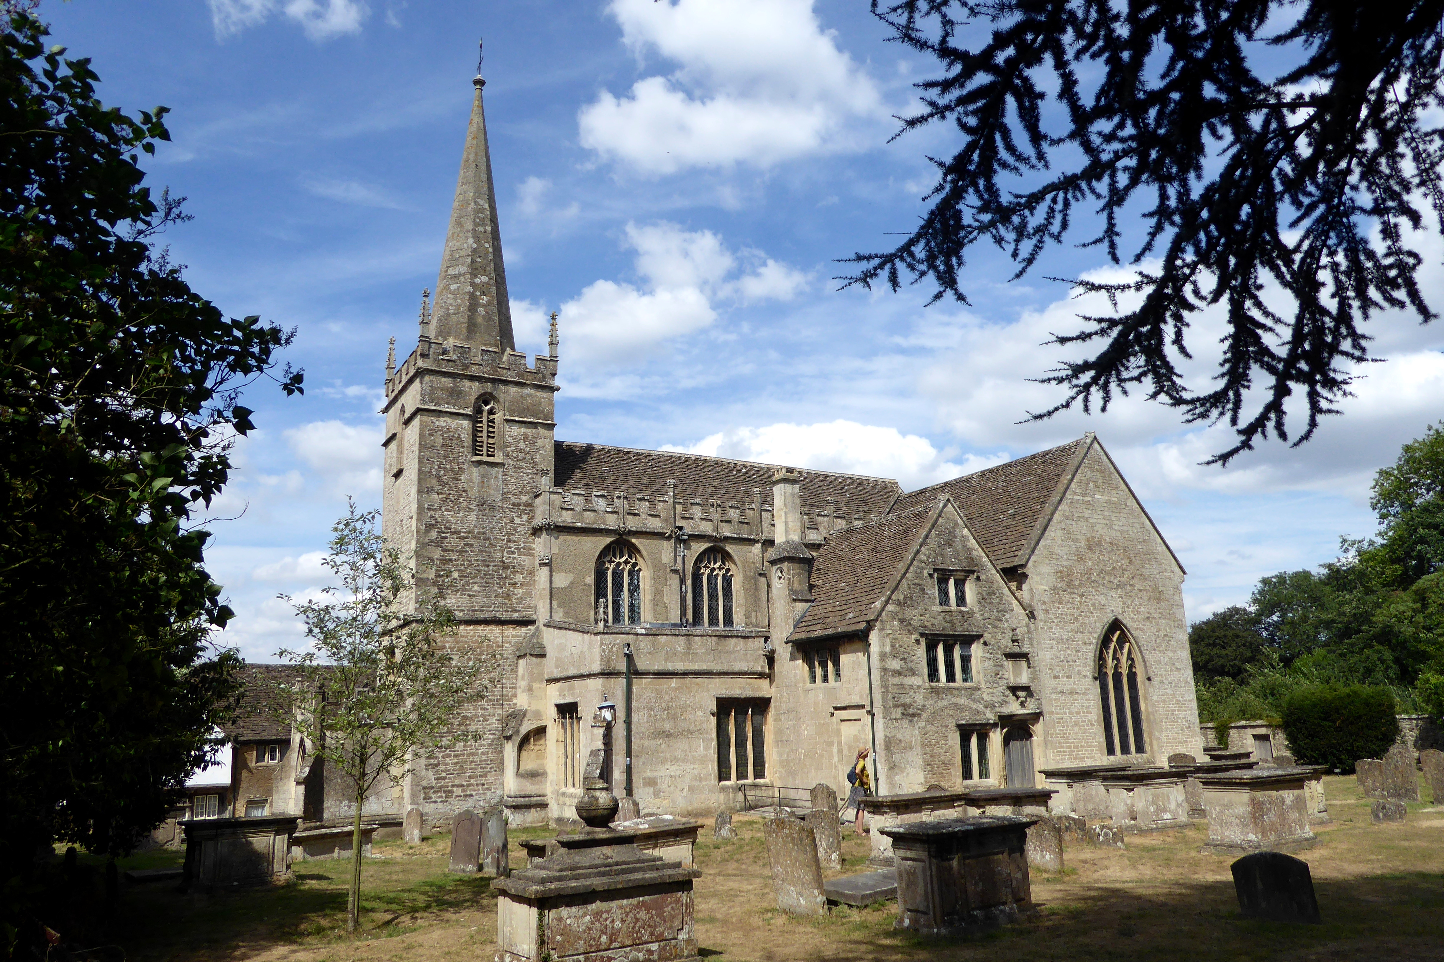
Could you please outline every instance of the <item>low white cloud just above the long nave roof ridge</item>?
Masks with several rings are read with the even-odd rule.
[[[949,460],[949,451],[939,451],[926,437],[902,434],[895,427],[843,420],[735,427],[709,434],[695,444],[666,446],[663,450],[892,477],[904,490],[936,485],[1006,460],[1005,456],[967,454],[957,463]]]

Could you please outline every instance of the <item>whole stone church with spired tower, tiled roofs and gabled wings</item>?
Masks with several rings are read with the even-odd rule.
[[[387,361],[383,505],[500,668],[397,800],[563,818],[595,747],[673,813],[843,792],[861,747],[885,795],[1200,751],[1183,565],[1092,434],[914,492],[557,440],[557,322],[516,349],[474,82],[435,301]]]

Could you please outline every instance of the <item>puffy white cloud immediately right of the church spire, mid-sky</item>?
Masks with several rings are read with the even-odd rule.
[[[712,326],[734,303],[791,300],[807,277],[760,251],[734,254],[712,231],[676,224],[627,225],[640,283],[598,280],[560,307],[566,371],[606,376],[635,368],[674,339]],[[546,312],[513,301],[513,325],[530,343],[544,343]]]

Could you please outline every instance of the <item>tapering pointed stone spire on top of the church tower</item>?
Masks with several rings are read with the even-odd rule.
[[[501,262],[497,190],[491,182],[491,151],[487,147],[487,115],[481,104],[481,88],[487,81],[478,75],[472,84],[477,95],[471,104],[471,125],[456,179],[442,273],[436,280],[430,336],[433,340],[453,339],[472,349],[516,350],[507,270]]]

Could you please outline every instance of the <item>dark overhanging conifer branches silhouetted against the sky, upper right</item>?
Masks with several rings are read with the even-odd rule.
[[[1083,215],[1135,283],[1082,283],[1136,307],[1084,317],[1089,348],[1044,381],[1106,410],[1147,391],[1187,421],[1227,418],[1227,462],[1305,441],[1369,358],[1383,309],[1434,317],[1415,281],[1414,231],[1444,222],[1444,0],[872,0],[892,39],[936,56],[902,130],[949,123],[962,146],[930,159],[931,208],[895,250],[858,254],[848,283],[930,278],[966,303],[969,248],[1008,251],[1021,275]],[[1427,215],[1425,206],[1434,209]],[[1138,242],[1131,218],[1142,219]],[[1372,235],[1378,231],[1378,238]],[[1129,250],[1123,245],[1131,244]],[[1227,317],[1216,384],[1188,385],[1197,312]],[[1212,345],[1210,345],[1212,348]]]

